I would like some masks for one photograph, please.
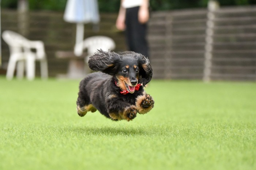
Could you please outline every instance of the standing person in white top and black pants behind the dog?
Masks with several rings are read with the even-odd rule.
[[[147,21],[149,19],[149,0],[121,0],[117,29],[124,30],[130,51],[148,57],[146,40]]]

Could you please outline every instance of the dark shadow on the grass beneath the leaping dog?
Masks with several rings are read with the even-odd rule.
[[[152,134],[152,131],[149,132],[146,129],[137,129],[137,128],[121,128],[117,127],[73,127],[72,129],[68,129],[68,131],[72,131],[72,133],[77,134],[88,134],[88,135],[149,135]]]

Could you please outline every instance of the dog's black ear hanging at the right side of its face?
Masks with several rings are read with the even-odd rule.
[[[145,86],[148,82],[151,81],[153,76],[153,70],[152,67],[149,64],[148,58],[146,58],[143,55],[139,55],[139,68],[140,68],[140,83]]]

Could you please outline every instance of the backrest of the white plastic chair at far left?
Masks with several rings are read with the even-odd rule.
[[[21,52],[23,44],[29,40],[23,37],[22,35],[6,30],[2,33],[3,40],[8,44],[10,52]]]

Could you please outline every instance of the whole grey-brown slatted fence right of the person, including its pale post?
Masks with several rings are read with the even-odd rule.
[[[256,80],[256,7],[154,12],[148,39],[156,78]]]

